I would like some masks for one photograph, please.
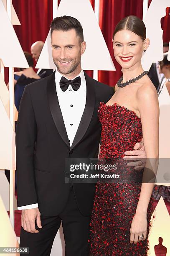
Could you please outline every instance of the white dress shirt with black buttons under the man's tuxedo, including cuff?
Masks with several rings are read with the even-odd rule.
[[[62,75],[56,69],[56,92],[58,96],[58,102],[60,105],[61,113],[63,116],[64,125],[66,127],[66,132],[71,146],[74,141],[74,137],[79,127],[79,123],[86,105],[86,79],[84,77],[83,70],[81,70],[80,74],[76,76],[81,78],[80,88],[77,91],[74,91],[71,87],[71,84],[69,84],[68,89],[65,92],[63,92],[60,88],[61,77]],[[66,79],[68,78],[66,77]],[[38,207],[38,203],[20,206],[18,207],[18,210],[33,209],[36,207]]]

